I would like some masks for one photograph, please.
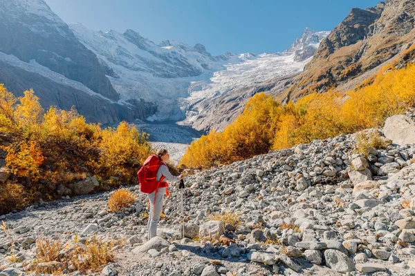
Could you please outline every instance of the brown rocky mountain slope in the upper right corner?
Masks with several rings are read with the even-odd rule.
[[[414,26],[414,1],[387,0],[366,10],[353,8],[320,43],[313,59],[283,97],[288,100],[312,90],[325,91],[374,68],[376,72],[412,46]]]

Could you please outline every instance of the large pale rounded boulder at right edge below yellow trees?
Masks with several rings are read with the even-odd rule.
[[[394,115],[386,119],[383,134],[394,144],[413,144],[415,143],[415,123],[405,115]]]

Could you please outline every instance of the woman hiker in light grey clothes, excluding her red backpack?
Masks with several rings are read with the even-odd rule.
[[[156,237],[157,235],[157,224],[160,220],[164,197],[168,189],[167,182],[165,182],[164,180],[167,179],[168,181],[172,182],[180,181],[184,177],[183,175],[175,177],[169,172],[169,168],[167,168],[165,164],[165,162],[169,160],[169,152],[167,152],[166,149],[157,150],[156,155],[160,159],[160,162],[163,162],[163,164],[161,164],[160,168],[158,168],[157,170],[156,181],[160,181],[161,179],[162,182],[160,182],[160,185],[158,186],[157,190],[148,195],[150,201],[150,214],[149,221],[147,223],[147,228],[149,230],[149,239],[151,239],[152,237]]]

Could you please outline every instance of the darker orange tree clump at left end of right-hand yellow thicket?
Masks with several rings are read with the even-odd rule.
[[[255,95],[225,131],[212,131],[192,142],[181,164],[212,166],[267,152],[272,146],[275,121],[280,109],[279,104],[265,93]]]

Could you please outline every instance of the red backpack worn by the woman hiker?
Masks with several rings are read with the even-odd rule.
[[[160,181],[156,181],[157,171],[161,165],[165,165],[157,155],[150,155],[145,159],[140,170],[137,172],[140,191],[145,194],[151,194],[158,188],[158,184],[165,178],[164,175]]]

